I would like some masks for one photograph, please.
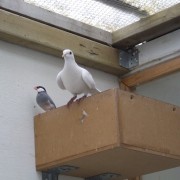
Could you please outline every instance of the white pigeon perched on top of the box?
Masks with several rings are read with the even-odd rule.
[[[84,94],[81,100],[87,97],[88,94],[100,92],[96,86],[92,75],[84,68],[80,67],[74,58],[74,54],[70,49],[63,51],[64,67],[58,73],[56,81],[61,89],[66,89],[74,96],[68,102],[70,105],[79,94]]]

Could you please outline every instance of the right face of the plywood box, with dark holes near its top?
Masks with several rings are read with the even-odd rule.
[[[123,143],[180,158],[180,109],[133,93],[120,92]]]

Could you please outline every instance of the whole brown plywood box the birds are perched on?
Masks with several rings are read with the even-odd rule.
[[[180,165],[180,108],[111,89],[35,117],[37,170],[118,179]]]

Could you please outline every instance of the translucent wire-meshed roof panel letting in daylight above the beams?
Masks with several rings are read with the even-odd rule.
[[[113,32],[180,0],[24,0],[27,3]]]

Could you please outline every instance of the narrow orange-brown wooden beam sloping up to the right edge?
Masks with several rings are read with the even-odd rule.
[[[180,56],[121,79],[129,88],[180,70]]]

